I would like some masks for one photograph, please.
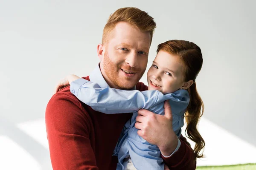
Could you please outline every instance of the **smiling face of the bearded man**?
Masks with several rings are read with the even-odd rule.
[[[104,45],[100,68],[112,88],[133,88],[143,76],[150,48],[150,34],[120,22]]]

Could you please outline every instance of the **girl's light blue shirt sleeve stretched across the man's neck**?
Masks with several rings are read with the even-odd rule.
[[[131,113],[141,108],[150,108],[155,104],[160,93],[101,88],[97,83],[85,79],[71,82],[70,91],[93,110],[107,114]]]

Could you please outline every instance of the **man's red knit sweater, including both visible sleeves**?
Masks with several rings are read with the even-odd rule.
[[[136,88],[148,89],[141,82]],[[79,101],[69,86],[52,96],[45,120],[53,169],[116,170],[117,157],[112,156],[113,150],[131,116],[131,113],[96,112]],[[180,139],[179,150],[163,159],[170,170],[195,170],[194,152],[183,136]]]

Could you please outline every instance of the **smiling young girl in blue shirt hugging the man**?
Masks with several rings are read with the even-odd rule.
[[[195,85],[202,63],[201,49],[193,42],[170,40],[157,47],[157,56],[147,74],[148,91],[101,88],[97,83],[69,75],[59,83],[56,92],[61,86],[70,84],[70,91],[95,111],[107,114],[133,112],[114,150],[119,161],[116,169],[163,170],[159,148],[137,134],[138,129],[134,127],[137,111],[144,108],[163,115],[163,102],[169,100],[173,130],[180,137],[185,116],[187,136],[195,142],[196,157],[202,157],[200,151],[204,148],[204,139],[197,124],[204,105]]]

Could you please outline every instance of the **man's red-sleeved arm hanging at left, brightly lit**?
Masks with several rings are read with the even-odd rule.
[[[98,170],[90,143],[90,118],[72,94],[52,96],[45,119],[54,170]]]

